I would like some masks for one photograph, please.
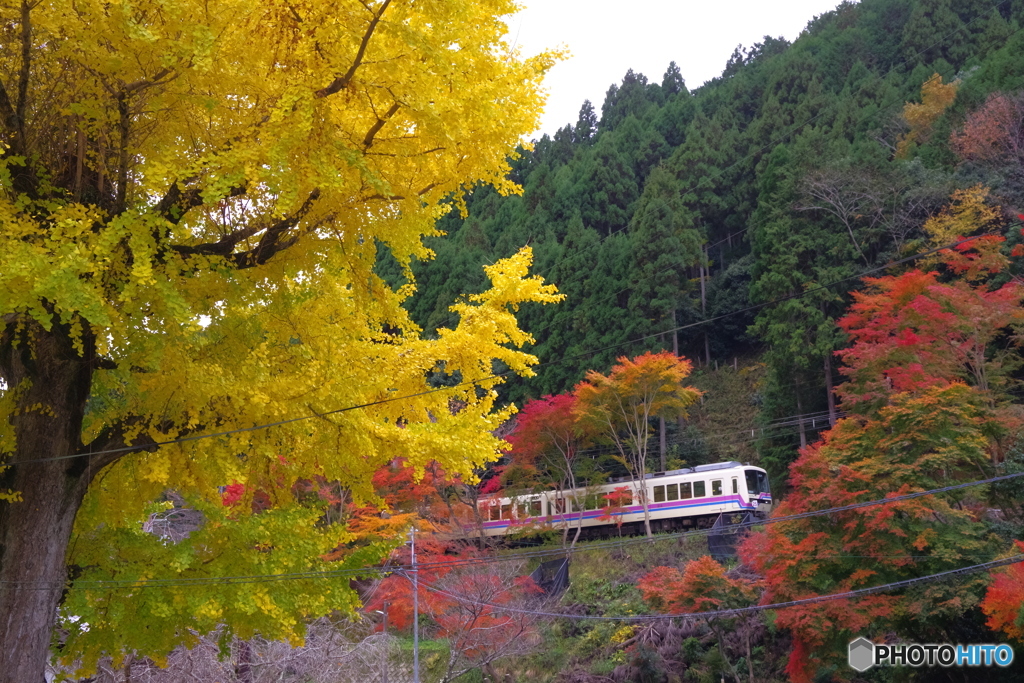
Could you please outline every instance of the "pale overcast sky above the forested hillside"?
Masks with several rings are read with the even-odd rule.
[[[721,76],[736,45],[765,35],[793,41],[815,15],[840,0],[519,0],[525,8],[509,20],[509,40],[524,54],[564,45],[572,53],[545,79],[549,91],[537,133],[553,134],[575,123],[584,99],[598,116],[611,83],[627,69],[660,83],[670,61],[686,86]]]

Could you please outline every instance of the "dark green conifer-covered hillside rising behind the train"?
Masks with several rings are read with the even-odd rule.
[[[848,2],[793,44],[737,48],[695,90],[675,63],[659,79],[631,71],[599,109],[584,102],[521,151],[521,195],[456,198],[465,215],[446,215],[428,240],[436,258],[413,266],[411,313],[451,327],[452,299],[485,287],[479,266],[531,245],[567,300],[520,311],[541,366],[508,399],[566,391],[643,350],[706,368],[760,356],[761,424],[824,417],[757,444],[781,478],[795,446],[835,420],[833,352],[847,344],[836,319],[856,275],[925,249],[927,219],[956,188],[983,184],[1002,217],[1024,206],[1019,154],[951,141],[970,117],[983,125],[992,93],[1024,88],[1022,22],[1019,0]],[[381,270],[401,282],[389,259]]]

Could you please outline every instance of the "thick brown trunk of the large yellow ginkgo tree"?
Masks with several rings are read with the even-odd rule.
[[[0,377],[18,392],[18,410],[10,418],[14,451],[0,490],[17,492],[19,500],[0,502],[0,683],[41,683],[68,543],[95,472],[89,457],[33,461],[81,452],[94,346],[83,335],[83,358],[56,323],[50,331],[35,322],[23,319],[20,330],[6,323]]]

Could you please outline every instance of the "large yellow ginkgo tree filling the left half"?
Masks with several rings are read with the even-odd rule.
[[[493,365],[535,360],[512,311],[558,295],[524,250],[425,339],[415,283],[374,267],[387,250],[411,276],[462,188],[516,189],[506,159],[558,55],[505,42],[514,10],[0,7],[0,683],[42,678],[61,605],[85,668],[221,623],[301,635],[354,604],[344,575],[304,573],[319,556],[386,547],[339,553],[352,533],[296,482],[373,502],[395,458],[471,476],[495,457]],[[462,383],[431,392],[438,369]],[[142,528],[169,490],[204,513],[179,543]]]

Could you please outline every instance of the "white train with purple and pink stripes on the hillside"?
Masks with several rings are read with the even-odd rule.
[[[648,474],[644,485],[655,531],[696,525],[722,513],[767,514],[772,506],[767,473],[736,462]],[[632,500],[609,505],[605,496],[623,486]],[[578,524],[591,531],[588,536],[606,536],[620,523],[631,529],[643,524],[638,486],[628,478],[587,488],[485,498],[478,507],[486,536],[505,536],[527,527],[574,529]]]

